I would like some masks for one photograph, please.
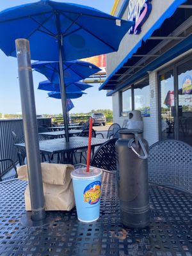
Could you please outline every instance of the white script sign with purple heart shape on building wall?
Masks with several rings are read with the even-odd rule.
[[[129,34],[138,35],[152,10],[152,0],[129,0],[127,19],[135,22],[129,29]]]

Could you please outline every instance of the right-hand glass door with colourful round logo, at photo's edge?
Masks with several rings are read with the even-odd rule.
[[[192,60],[176,67],[178,84],[178,138],[192,145]]]

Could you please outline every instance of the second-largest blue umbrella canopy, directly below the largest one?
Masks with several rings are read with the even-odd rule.
[[[31,64],[37,72],[44,74],[49,81],[60,83],[60,63],[58,61],[36,61]],[[101,69],[87,61],[73,60],[63,63],[64,81],[68,83],[80,81],[86,77],[92,76]]]

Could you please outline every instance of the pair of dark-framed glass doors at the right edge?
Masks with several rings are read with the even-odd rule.
[[[159,138],[192,145],[192,56],[158,74]]]

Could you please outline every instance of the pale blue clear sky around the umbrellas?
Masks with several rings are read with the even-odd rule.
[[[35,3],[37,0],[0,0],[0,11],[25,3]],[[77,3],[97,8],[102,12],[110,13],[114,0],[57,0],[58,2]],[[61,100],[47,98],[47,92],[37,90],[38,83],[46,77],[38,72],[33,72],[35,91],[36,114],[62,113]],[[111,97],[106,97],[106,91],[99,91],[100,84],[92,84],[85,92],[87,95],[73,99],[75,108],[70,113],[86,113],[92,109],[112,109]],[[0,113],[21,113],[19,79],[17,71],[17,58],[7,57],[0,49]]]

